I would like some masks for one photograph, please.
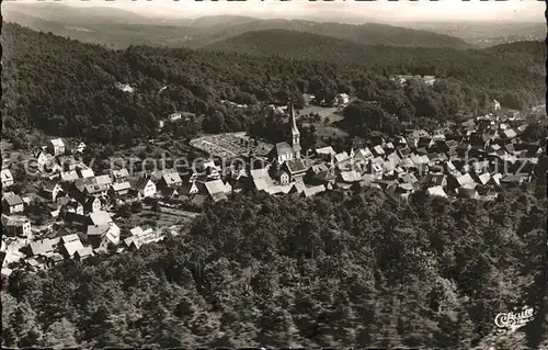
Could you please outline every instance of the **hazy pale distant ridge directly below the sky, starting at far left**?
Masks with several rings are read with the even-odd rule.
[[[384,24],[319,23],[302,20],[259,20],[242,15],[210,15],[164,20],[111,8],[76,8],[60,3],[2,3],[2,15],[33,30],[84,43],[127,48],[130,45],[198,48],[259,30],[288,30],[327,35],[367,45],[469,48],[459,38]]]

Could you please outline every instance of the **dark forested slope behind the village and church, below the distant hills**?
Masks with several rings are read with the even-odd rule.
[[[292,35],[287,43],[299,35],[322,38]],[[38,128],[49,135],[124,143],[157,136],[158,121],[175,111],[195,115],[181,125],[181,137],[264,131],[266,110],[260,102],[302,100],[302,93],[349,92],[363,101],[380,101],[383,113],[396,115],[399,122],[477,115],[487,111],[493,98],[521,110],[544,100],[546,47],[516,45],[522,49],[516,52],[512,45],[490,50],[363,46],[357,63],[329,55],[317,60],[288,59],[281,57],[282,50],[267,58],[145,46],[110,50],[5,24],[3,132],[25,139],[26,129]],[[407,72],[439,79],[433,87],[406,88],[389,80],[391,74]],[[115,82],[129,83],[135,91],[116,90]],[[250,108],[229,108],[221,100]]]

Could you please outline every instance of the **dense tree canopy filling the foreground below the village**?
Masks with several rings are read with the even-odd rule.
[[[236,194],[137,252],[14,272],[2,346],[548,346],[544,195]],[[524,304],[534,321],[499,334]]]

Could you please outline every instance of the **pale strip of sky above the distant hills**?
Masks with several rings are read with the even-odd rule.
[[[165,18],[196,18],[214,14],[240,14],[258,18],[288,19],[364,19],[378,21],[544,21],[546,4],[538,0],[510,1],[333,1],[309,2],[308,0],[248,0],[246,2],[194,1],[194,0],[116,0],[105,2],[90,0],[77,2],[62,1],[65,4],[89,7],[115,7],[145,15]]]

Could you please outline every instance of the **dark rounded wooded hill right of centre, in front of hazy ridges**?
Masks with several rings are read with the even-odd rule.
[[[499,63],[501,65],[520,65],[525,70],[537,74],[544,68],[546,45],[541,42],[514,43],[501,45],[492,49],[452,49],[424,47],[396,47],[388,45],[359,45],[355,42],[338,39],[331,36],[301,33],[287,30],[265,30],[248,32],[204,47],[207,50],[235,52],[254,56],[281,56],[298,59],[316,59],[327,61],[350,61],[365,66],[414,67],[421,75],[446,75],[457,79],[475,79],[491,70],[493,63],[490,55],[505,55],[506,59],[520,59],[518,63]],[[468,68],[459,67],[464,63]],[[422,68],[419,68],[422,67]],[[431,67],[430,70],[424,69]],[[439,69],[444,67],[444,69]],[[459,68],[457,68],[459,67]],[[483,70],[483,69],[487,69]],[[466,72],[465,72],[466,70]],[[480,72],[480,70],[483,70]],[[442,72],[443,71],[443,72]],[[442,72],[442,74],[441,74]],[[499,79],[505,79],[500,75]],[[467,78],[464,77],[467,76]],[[532,79],[533,76],[529,76]],[[479,82],[479,81],[478,81]],[[484,84],[486,81],[479,82]]]

